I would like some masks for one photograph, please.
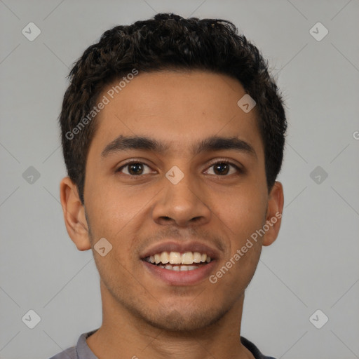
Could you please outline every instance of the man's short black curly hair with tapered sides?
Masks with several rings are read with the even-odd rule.
[[[88,115],[104,87],[134,68],[140,73],[198,69],[237,79],[256,102],[270,191],[283,161],[287,121],[283,97],[269,74],[267,61],[243,34],[238,35],[232,22],[159,13],[104,32],[69,73],[59,123],[67,174],[76,184],[81,203],[95,117],[76,136],[68,134]]]

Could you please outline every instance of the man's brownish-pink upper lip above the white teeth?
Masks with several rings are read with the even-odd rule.
[[[199,252],[201,254],[206,254],[211,259],[217,259],[219,257],[218,251],[210,246],[196,242],[196,241],[187,241],[187,242],[176,242],[176,241],[166,241],[162,243],[157,243],[152,245],[150,248],[147,248],[142,255],[141,259],[149,257],[151,255],[156,255],[156,253],[161,252]]]

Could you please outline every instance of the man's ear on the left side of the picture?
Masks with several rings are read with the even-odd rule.
[[[89,250],[91,243],[85,208],[80,201],[76,184],[69,177],[63,178],[60,182],[60,199],[67,233],[78,250]]]

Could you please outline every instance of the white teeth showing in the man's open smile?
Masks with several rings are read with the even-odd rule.
[[[156,255],[151,255],[146,258],[147,262],[152,264],[194,264],[194,263],[209,263],[211,257],[207,256],[205,253],[201,254],[199,252],[185,252],[181,255],[179,252],[161,252],[156,253]],[[165,268],[165,266],[163,266]],[[174,266],[172,270],[177,271]],[[186,266],[189,268],[189,266]],[[196,266],[197,268],[197,266]],[[187,269],[182,269],[183,271]]]

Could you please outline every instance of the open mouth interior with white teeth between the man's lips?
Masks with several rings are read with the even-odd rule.
[[[206,253],[201,252],[158,252],[144,257],[145,262],[168,271],[195,271],[212,262]]]

